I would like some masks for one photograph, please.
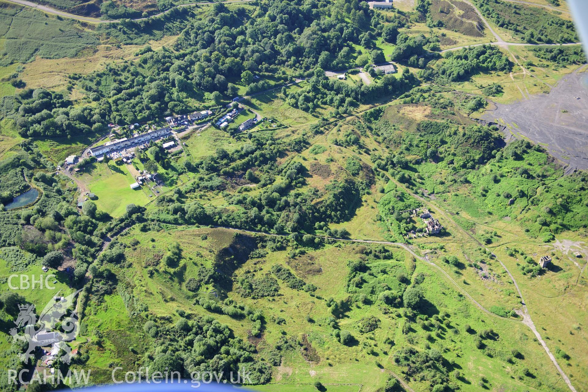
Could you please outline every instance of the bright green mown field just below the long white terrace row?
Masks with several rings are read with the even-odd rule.
[[[128,204],[135,203],[142,206],[149,202],[148,195],[151,190],[145,189],[144,186],[139,189],[129,187],[136,180],[126,166],[108,162],[108,166],[96,163],[94,167],[91,171],[79,176],[79,180],[98,197],[94,200],[98,209],[118,217],[125,213]]]

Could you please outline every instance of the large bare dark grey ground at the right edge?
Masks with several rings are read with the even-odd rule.
[[[579,99],[576,99],[579,98]],[[482,119],[504,123],[517,138],[541,143],[569,170],[588,169],[588,73],[562,78],[549,94],[508,105],[496,104]]]

